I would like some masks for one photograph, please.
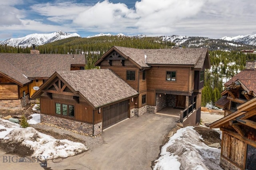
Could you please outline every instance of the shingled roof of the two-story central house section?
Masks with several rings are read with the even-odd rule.
[[[130,58],[141,68],[150,67],[150,64],[162,64],[190,65],[191,67],[202,69],[205,59],[207,59],[206,68],[210,68],[207,48],[136,49],[113,46],[109,51],[112,50],[116,50],[121,55],[124,55],[123,57]],[[102,55],[102,58],[96,62],[96,65],[107,55],[108,51]]]

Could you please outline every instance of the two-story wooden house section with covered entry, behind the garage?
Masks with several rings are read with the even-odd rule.
[[[95,63],[111,69],[138,93],[134,114],[156,113],[165,107],[183,109],[180,122],[200,123],[204,69],[210,68],[207,48],[135,49],[113,46]]]

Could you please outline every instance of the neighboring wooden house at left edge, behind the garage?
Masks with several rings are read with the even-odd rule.
[[[85,55],[0,53],[0,108],[28,104],[40,86],[57,70],[84,69]]]

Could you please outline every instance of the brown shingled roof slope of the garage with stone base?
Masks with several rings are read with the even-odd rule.
[[[95,108],[138,95],[110,69],[57,71],[74,91],[79,91]]]

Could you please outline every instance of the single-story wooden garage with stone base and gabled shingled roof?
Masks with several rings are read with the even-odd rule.
[[[136,97],[110,69],[57,71],[32,96],[42,122],[93,135],[131,117]]]

